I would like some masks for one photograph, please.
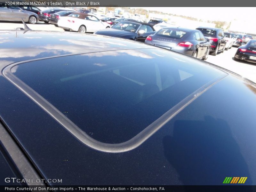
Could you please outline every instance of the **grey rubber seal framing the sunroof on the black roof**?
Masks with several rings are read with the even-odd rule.
[[[124,49],[122,49],[124,50]],[[107,50],[109,51],[109,50]],[[111,50],[117,51],[117,50]],[[88,53],[88,52],[87,52]],[[92,53],[92,52],[89,52]],[[56,57],[63,57],[69,55],[78,55],[78,54],[86,54],[86,53],[75,53],[68,55],[60,55],[53,56],[47,58],[33,59],[20,61],[16,63],[12,63],[6,66],[2,70],[2,75],[8,79],[12,84],[14,84],[17,88],[19,88],[23,93],[25,93],[31,100],[33,100],[37,105],[39,105],[44,111],[46,111],[52,118],[54,118],[57,122],[59,122],[68,132],[74,135],[78,140],[84,143],[86,146],[93,148],[95,150],[108,152],[108,153],[121,153],[130,151],[134,148],[139,147],[144,141],[146,141],[150,136],[152,136],[156,131],[158,131],[161,127],[163,127],[168,121],[170,121],[174,116],[176,116],[182,109],[188,106],[192,101],[194,101],[197,97],[207,91],[214,84],[218,83],[220,80],[228,76],[226,72],[223,75],[216,77],[212,81],[208,82],[201,88],[197,89],[195,92],[188,95],[185,99],[181,100],[178,104],[164,113],[161,117],[156,119],[152,124],[148,125],[144,130],[134,136],[132,139],[127,140],[123,143],[109,144],[103,143],[98,140],[93,139],[88,134],[86,134],[83,130],[81,130],[76,124],[74,124],[68,117],[62,114],[57,108],[55,108],[51,103],[45,100],[41,95],[35,92],[32,88],[30,88],[27,84],[22,82],[18,77],[12,74],[11,69],[19,64],[27,63],[29,61],[36,60],[44,60],[51,59]]]

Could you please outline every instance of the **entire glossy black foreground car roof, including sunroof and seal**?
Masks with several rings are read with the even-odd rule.
[[[115,37],[0,37],[1,185],[11,177],[46,185],[223,185],[226,177],[256,184],[249,80]]]

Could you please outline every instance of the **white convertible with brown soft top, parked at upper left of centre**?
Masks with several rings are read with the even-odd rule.
[[[95,32],[111,27],[107,22],[102,22],[94,15],[85,13],[72,13],[63,17],[58,21],[58,26],[65,31],[77,31],[79,33]]]

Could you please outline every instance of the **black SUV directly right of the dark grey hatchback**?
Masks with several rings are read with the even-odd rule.
[[[224,39],[224,33],[222,29],[219,28],[209,28],[209,27],[198,27],[197,30],[204,34],[204,38],[209,39],[211,43],[211,54],[217,55],[218,52],[224,52],[226,41]]]

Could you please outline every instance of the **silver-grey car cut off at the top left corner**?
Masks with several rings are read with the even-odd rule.
[[[39,21],[39,17],[36,13],[26,11],[14,5],[5,4],[5,2],[0,2],[0,20],[21,21],[21,19],[23,19],[30,24],[36,24],[36,22]]]

